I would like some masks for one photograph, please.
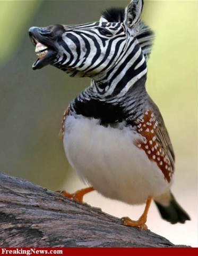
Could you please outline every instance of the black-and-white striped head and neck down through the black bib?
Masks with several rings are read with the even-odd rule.
[[[42,58],[34,69],[50,63],[72,77],[92,78],[90,87],[71,103],[71,115],[112,124],[141,112],[139,95],[148,97],[144,85],[153,41],[152,31],[140,20],[142,5],[142,0],[132,0],[126,9],[103,12],[98,22],[29,30],[32,43],[47,49],[44,57],[39,53]]]

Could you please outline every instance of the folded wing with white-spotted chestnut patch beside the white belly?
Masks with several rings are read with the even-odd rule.
[[[151,161],[156,162],[165,179],[170,182],[174,172],[175,157],[159,110],[145,110],[137,119],[136,132],[141,135],[142,139],[137,139],[134,142],[135,145],[143,149]]]

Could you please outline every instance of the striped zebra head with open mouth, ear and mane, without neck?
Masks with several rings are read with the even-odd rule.
[[[32,68],[50,64],[70,76],[102,76],[114,69],[126,52],[132,58],[133,49],[145,62],[153,34],[140,20],[142,7],[143,0],[132,0],[126,9],[104,11],[99,22],[31,27],[29,35],[38,55]]]

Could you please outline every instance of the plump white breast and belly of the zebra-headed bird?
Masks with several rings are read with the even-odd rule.
[[[133,144],[136,134],[99,125],[98,120],[68,116],[64,148],[82,180],[102,195],[128,204],[144,203],[169,189],[156,163]]]

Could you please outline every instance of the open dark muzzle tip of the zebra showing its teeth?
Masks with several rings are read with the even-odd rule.
[[[35,52],[38,56],[38,59],[33,63],[32,68],[34,70],[40,69],[53,63],[57,51],[52,43],[48,42],[48,39],[41,35],[40,28],[30,28],[29,36],[32,44],[35,46]]]

